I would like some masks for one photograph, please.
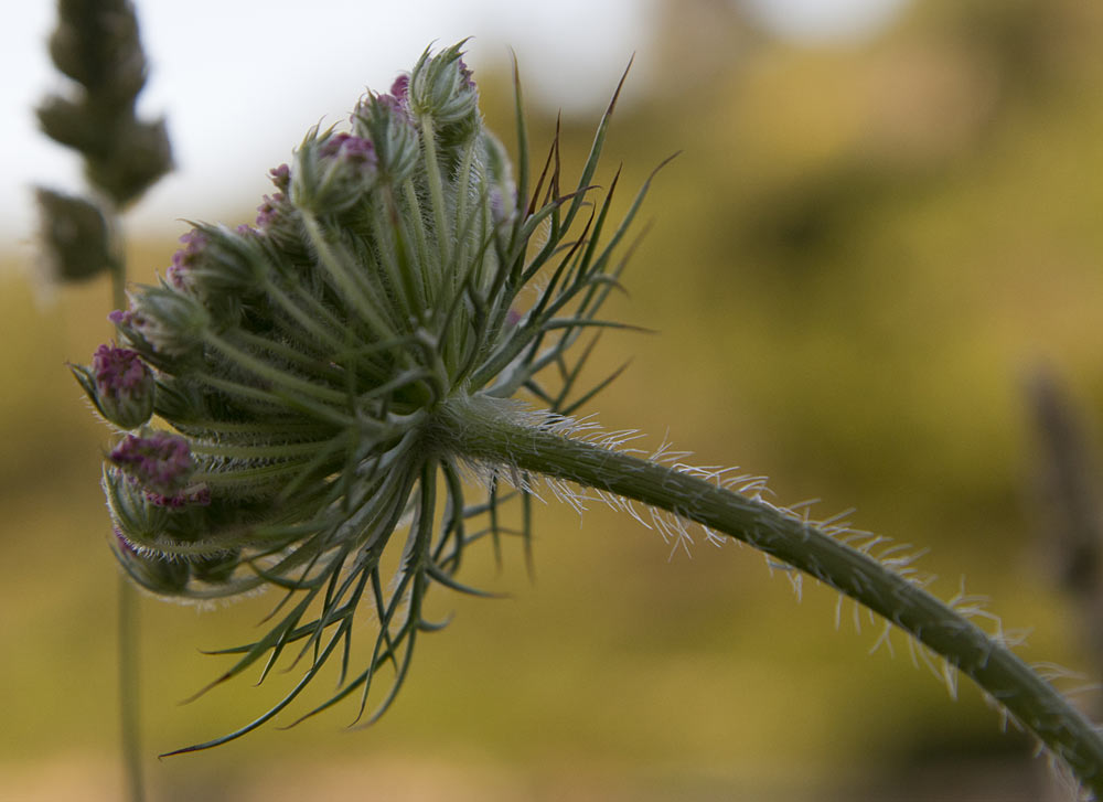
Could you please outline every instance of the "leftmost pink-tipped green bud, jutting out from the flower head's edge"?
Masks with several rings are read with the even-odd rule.
[[[153,415],[153,373],[137,351],[100,345],[90,371],[74,367],[73,372],[99,414],[116,426],[136,429]]]

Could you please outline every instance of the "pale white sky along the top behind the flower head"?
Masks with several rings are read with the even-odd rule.
[[[782,34],[864,35],[906,0],[745,0]],[[474,36],[468,62],[504,64],[510,49],[526,92],[552,106],[598,110],[629,57],[642,86],[651,66],[653,0],[137,0],[151,63],[141,99],[164,114],[176,171],[128,215],[131,231],[182,231],[180,218],[248,208],[270,191],[268,168],[286,161],[306,129],[335,122],[365,87],[386,89],[436,41]],[[24,246],[35,215],[30,188],[79,192],[78,162],[49,142],[32,108],[61,86],[46,53],[55,3],[11,4],[0,26],[3,180],[0,243]],[[212,193],[216,193],[212,197]]]

